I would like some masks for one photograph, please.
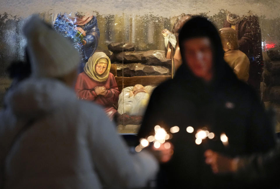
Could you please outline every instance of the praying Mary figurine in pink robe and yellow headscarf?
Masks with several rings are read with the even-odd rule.
[[[120,92],[110,68],[111,60],[105,53],[94,53],[85,64],[84,71],[78,75],[75,91],[80,99],[103,106],[112,120],[117,113],[113,103],[118,101]]]

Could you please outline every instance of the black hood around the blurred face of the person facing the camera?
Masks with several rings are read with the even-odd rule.
[[[211,41],[213,48],[213,80],[212,85],[221,83],[221,81],[234,81],[236,76],[233,71],[224,61],[224,51],[220,36],[216,27],[204,17],[194,17],[187,21],[182,27],[179,33],[179,46],[181,52],[184,52],[183,42],[185,40],[196,38],[196,37],[208,37]],[[183,64],[180,66],[176,72],[175,79],[179,80],[189,80],[192,82],[203,83],[202,79],[196,77],[192,71],[187,66],[185,56],[182,53]],[[195,83],[196,83],[195,82]]]

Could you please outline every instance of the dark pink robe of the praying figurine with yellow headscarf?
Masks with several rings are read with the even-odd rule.
[[[94,88],[97,86],[105,87],[108,90],[108,93],[105,96],[97,95],[94,91]],[[113,108],[113,103],[118,101],[120,92],[112,73],[109,73],[106,81],[98,82],[88,77],[88,75],[83,71],[78,75],[75,91],[78,98],[94,101],[95,103],[103,106],[111,120],[115,113],[117,113],[117,110]]]

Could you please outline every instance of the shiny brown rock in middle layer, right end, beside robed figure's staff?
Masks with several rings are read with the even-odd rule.
[[[150,50],[143,53],[142,60],[147,65],[152,66],[165,66],[171,68],[171,59],[167,59],[164,56],[162,50]]]

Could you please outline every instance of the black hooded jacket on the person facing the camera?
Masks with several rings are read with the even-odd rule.
[[[231,175],[215,175],[204,163],[204,151],[212,149],[228,156],[264,152],[274,146],[273,130],[260,100],[247,84],[239,81],[223,60],[224,52],[218,32],[207,19],[195,17],[180,31],[179,45],[194,37],[209,37],[213,47],[214,76],[206,84],[183,64],[173,80],[160,84],[151,95],[139,138],[154,134],[154,126],[169,131],[178,126],[178,133],[170,140],[174,144],[172,159],[162,164],[158,188],[241,188],[253,183],[234,181]],[[192,126],[193,133],[186,132]],[[207,127],[215,134],[195,144],[197,129]],[[228,145],[220,141],[220,134],[228,137]],[[267,183],[260,181],[256,186]]]

